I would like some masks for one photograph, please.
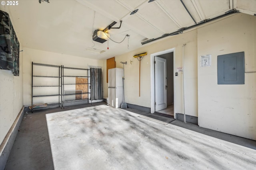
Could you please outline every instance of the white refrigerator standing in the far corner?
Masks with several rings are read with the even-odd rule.
[[[123,100],[123,68],[108,69],[108,105],[121,107]]]

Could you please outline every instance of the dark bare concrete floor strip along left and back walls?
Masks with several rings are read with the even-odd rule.
[[[25,113],[5,170],[53,170],[52,152],[45,115],[101,104],[106,104],[106,102],[66,106],[65,109],[57,107],[36,110],[34,113],[31,111]]]

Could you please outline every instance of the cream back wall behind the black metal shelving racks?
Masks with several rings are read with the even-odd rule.
[[[59,53],[52,53],[48,51],[40,51],[36,49],[30,49],[30,48],[24,48],[24,105],[30,106],[31,105],[31,73],[32,73],[32,62],[34,63],[41,63],[41,64],[52,64],[52,65],[64,65],[66,67],[75,67],[75,68],[88,68],[89,66],[100,66],[102,67],[103,61],[99,60],[93,60],[93,59],[86,59],[83,57],[76,57],[76,56],[70,56],[70,55],[63,55]],[[46,70],[47,69],[47,70]],[[58,68],[50,68],[50,67],[44,67],[44,66],[34,66],[34,70],[36,75],[51,75],[51,76],[58,76]],[[104,69],[102,70],[104,71]],[[82,73],[79,70],[69,70],[69,75],[82,75]],[[78,74],[77,74],[78,73]],[[104,75],[105,76],[105,75]],[[34,79],[36,81],[36,79]],[[72,81],[72,80],[70,80]],[[74,81],[75,82],[75,78]],[[36,81],[36,83],[40,83],[38,85],[52,85],[52,84],[58,84],[58,80],[42,80],[42,81]],[[73,86],[73,89],[75,90],[75,85]],[[68,88],[65,86],[65,90],[68,90]],[[40,92],[40,90],[44,90],[44,92]],[[53,88],[39,88],[35,89],[35,94],[56,94],[56,89]],[[57,91],[58,92],[58,91]],[[43,98],[34,98],[34,104],[37,103],[48,103],[48,102],[56,102],[56,98],[58,100],[58,97],[43,97]]]

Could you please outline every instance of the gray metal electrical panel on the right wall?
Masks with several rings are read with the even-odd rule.
[[[218,55],[218,84],[244,84],[244,52]]]

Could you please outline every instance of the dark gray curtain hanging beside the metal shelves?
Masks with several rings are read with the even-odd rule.
[[[91,100],[103,99],[102,69],[90,68]]]

